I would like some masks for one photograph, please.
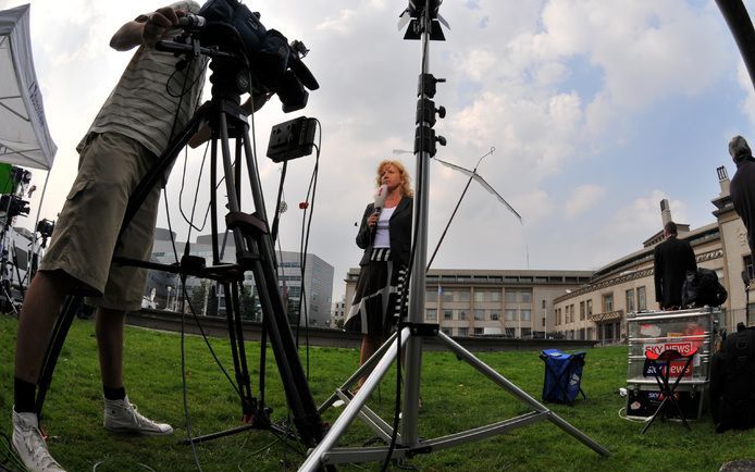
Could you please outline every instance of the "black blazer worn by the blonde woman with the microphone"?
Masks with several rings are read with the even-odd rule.
[[[411,215],[414,199],[401,197],[388,220],[388,233],[391,238],[391,260],[399,265],[409,264],[409,252],[411,251]],[[357,233],[357,246],[364,249],[359,265],[367,265],[372,253],[373,234],[367,226],[367,219],[375,212],[374,203],[370,203],[364,209],[362,223]]]

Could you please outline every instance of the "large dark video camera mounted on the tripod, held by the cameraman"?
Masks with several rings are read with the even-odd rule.
[[[288,44],[283,34],[265,29],[260,14],[251,12],[237,0],[209,0],[196,15],[180,20],[186,30],[183,39],[199,39],[205,48],[240,55],[251,76],[251,86],[258,94],[275,92],[288,113],[307,105],[310,90],[320,85],[301,62],[309,50],[301,41]]]

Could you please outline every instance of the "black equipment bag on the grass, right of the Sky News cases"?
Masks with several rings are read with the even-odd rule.
[[[730,334],[710,365],[716,433],[755,426],[755,330]]]

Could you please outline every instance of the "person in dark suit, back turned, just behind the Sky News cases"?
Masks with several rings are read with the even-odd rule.
[[[677,224],[664,226],[665,241],[655,247],[653,254],[655,299],[661,310],[674,310],[682,306],[682,285],[686,271],[696,271],[695,252],[685,240],[677,239]]]

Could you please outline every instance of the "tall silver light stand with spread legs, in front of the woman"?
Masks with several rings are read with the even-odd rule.
[[[414,137],[414,154],[417,157],[417,192],[414,196],[414,240],[413,260],[411,265],[411,282],[409,297],[409,320],[398,333],[395,333],[359,370],[357,370],[339,388],[335,390],[321,407],[320,411],[330,408],[333,402],[341,399],[346,402],[343,413],[333,423],[331,430],[318,445],[311,450],[307,460],[301,464],[299,471],[314,472],[323,465],[337,463],[355,463],[369,461],[384,461],[387,456],[391,459],[406,459],[419,454],[430,454],[448,447],[458,446],[472,440],[482,439],[496,434],[507,432],[520,426],[528,425],[537,421],[547,420],[583,443],[602,456],[609,456],[610,451],[587,435],[562,420],[547,407],[535,400],[524,390],[517,387],[498,372],[480,361],[471,352],[445,335],[438,330],[437,324],[423,323],[424,315],[424,294],[425,294],[425,269],[426,269],[426,248],[428,248],[428,196],[429,196],[429,161],[435,154],[435,141],[443,144],[445,139],[435,138],[432,126],[435,122],[435,108],[431,100],[435,94],[435,84],[444,82],[435,79],[428,73],[428,50],[431,39],[441,39],[440,23],[437,18],[437,8],[440,1],[426,0],[425,2],[410,2],[407,12],[413,13],[414,4],[421,4],[420,14],[412,15],[410,29],[419,37],[412,37],[410,32],[405,38],[421,39],[422,42],[422,67],[419,83],[418,96],[420,97],[417,105],[417,128]],[[436,28],[433,30],[433,28]],[[434,337],[445,345],[459,359],[465,360],[481,374],[493,381],[500,388],[511,394],[517,399],[529,405],[532,411],[519,417],[504,420],[487,425],[479,426],[469,431],[449,434],[446,436],[423,439],[418,433],[418,405],[420,392],[420,371],[422,362],[422,343],[425,337]],[[393,431],[393,427],[383,421],[376,413],[366,407],[367,399],[378,387],[381,378],[386,374],[389,367],[397,357],[398,346],[406,346],[406,375],[404,403],[401,411],[400,434]],[[351,395],[348,388],[358,378],[368,372],[371,373],[362,384],[356,395]],[[345,434],[351,422],[359,417],[374,433],[389,443],[396,433],[395,448],[389,446],[380,447],[355,447],[336,448],[338,439]]]

